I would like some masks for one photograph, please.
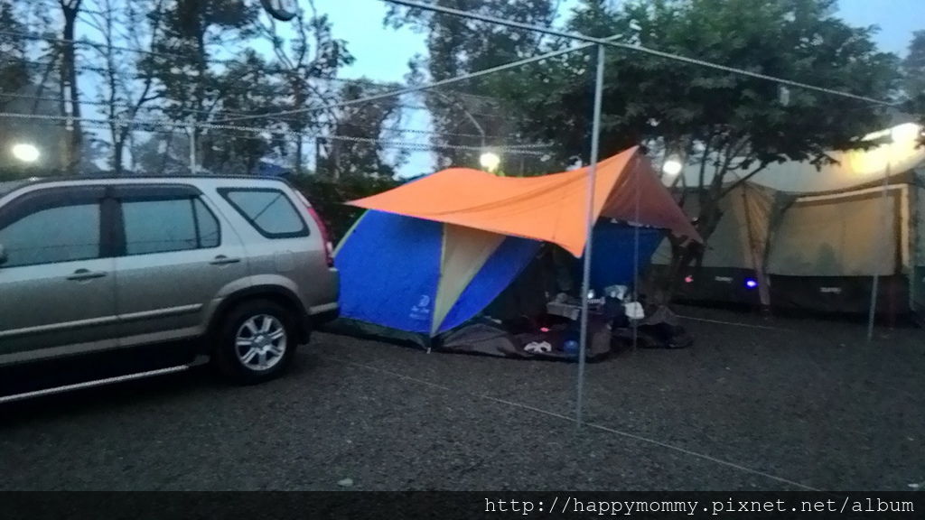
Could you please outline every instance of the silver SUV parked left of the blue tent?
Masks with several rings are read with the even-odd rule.
[[[322,221],[282,180],[0,183],[0,368],[146,352],[149,375],[205,354],[259,382],[337,316],[338,291]]]

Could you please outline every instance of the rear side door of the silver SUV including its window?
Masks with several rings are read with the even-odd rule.
[[[190,185],[117,187],[116,294],[121,343],[190,338],[223,291],[246,283],[240,238]]]

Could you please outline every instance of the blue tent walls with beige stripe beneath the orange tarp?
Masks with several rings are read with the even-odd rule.
[[[662,238],[639,229],[639,268]],[[601,222],[592,287],[633,281],[635,229]],[[370,210],[340,242],[340,314],[427,336],[457,328],[487,307],[535,257],[542,242]],[[581,261],[574,260],[576,272]]]

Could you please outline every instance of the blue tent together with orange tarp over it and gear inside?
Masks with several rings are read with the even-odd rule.
[[[367,211],[336,254],[337,328],[447,352],[574,359],[588,169],[500,178],[451,168],[349,203]],[[594,202],[590,279],[602,297],[589,302],[587,359],[627,330],[688,345],[664,311],[633,301],[632,286],[665,232],[700,241],[697,231],[636,148],[598,164]]]

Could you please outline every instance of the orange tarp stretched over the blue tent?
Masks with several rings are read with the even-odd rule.
[[[450,168],[348,204],[549,241],[581,256],[586,241],[589,169],[511,178]],[[594,216],[595,220],[611,217],[670,229],[676,236],[701,241],[637,147],[598,163]]]

